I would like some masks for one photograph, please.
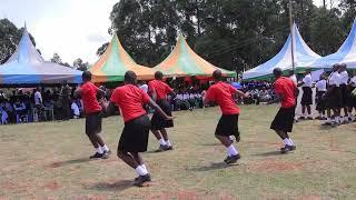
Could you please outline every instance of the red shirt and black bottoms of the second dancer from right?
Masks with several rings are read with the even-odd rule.
[[[222,81],[215,83],[207,91],[207,100],[216,102],[222,112],[215,130],[215,134],[217,136],[235,136],[239,138],[238,116],[240,109],[236,106],[233,97],[236,91],[236,88]]]

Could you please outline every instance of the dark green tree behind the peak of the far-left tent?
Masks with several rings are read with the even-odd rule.
[[[4,63],[16,51],[22,33],[23,28],[18,29],[8,19],[0,19],[0,64]],[[30,39],[36,47],[34,39],[31,34]]]

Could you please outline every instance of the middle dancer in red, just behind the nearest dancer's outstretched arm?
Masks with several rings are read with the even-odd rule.
[[[167,96],[176,97],[174,90],[162,81],[164,73],[157,71],[155,73],[155,79],[148,83],[148,92],[157,104],[165,111],[166,114],[171,116],[171,107],[167,101]],[[168,133],[166,128],[174,127],[172,120],[165,120],[161,114],[157,111],[154,113],[151,119],[151,130],[159,141],[159,151],[172,150],[172,146],[168,139]]]

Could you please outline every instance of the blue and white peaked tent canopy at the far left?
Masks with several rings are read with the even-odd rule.
[[[24,28],[16,52],[0,66],[0,84],[56,84],[63,80],[80,83],[81,71],[47,62],[34,48]]]

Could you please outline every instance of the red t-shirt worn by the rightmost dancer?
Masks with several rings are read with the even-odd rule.
[[[280,77],[275,82],[275,92],[279,96],[284,96],[284,100],[280,102],[281,108],[291,108],[296,106],[295,91],[297,87],[293,80]]]

